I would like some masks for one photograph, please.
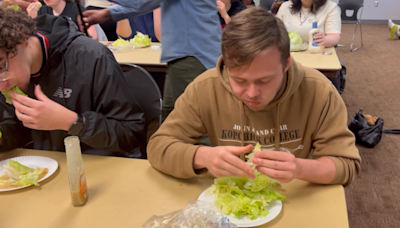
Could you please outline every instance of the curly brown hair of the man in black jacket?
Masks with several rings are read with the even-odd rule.
[[[14,9],[0,9],[0,49],[17,53],[17,45],[36,34],[36,23],[26,13]]]

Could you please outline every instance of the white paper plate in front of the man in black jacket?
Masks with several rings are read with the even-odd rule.
[[[5,171],[4,171],[3,165],[9,165],[8,160],[17,161],[17,162],[21,163],[22,165],[28,166],[30,168],[48,168],[49,172],[38,182],[41,182],[41,181],[47,179],[58,168],[58,162],[52,158],[41,157],[41,156],[21,156],[21,157],[15,157],[15,158],[10,158],[10,159],[0,161],[0,176],[4,175]],[[31,186],[31,185],[15,187],[15,188],[0,189],[0,192],[17,190],[17,189],[26,188],[29,186]]]

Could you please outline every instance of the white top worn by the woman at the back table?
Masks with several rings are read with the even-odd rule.
[[[312,29],[313,20],[318,20],[318,29],[325,33],[341,33],[341,10],[336,3],[328,0],[319,8],[317,14],[310,13],[309,9],[301,8],[299,13],[292,14],[292,1],[284,2],[277,13],[277,17],[285,23],[288,32],[297,31],[304,42],[308,42],[308,32]],[[301,17],[300,17],[301,16]]]

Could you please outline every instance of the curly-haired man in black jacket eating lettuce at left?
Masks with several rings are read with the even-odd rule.
[[[76,135],[84,153],[140,157],[143,112],[113,54],[71,19],[0,9],[0,90],[15,86],[28,97],[0,96],[0,151],[64,151]]]

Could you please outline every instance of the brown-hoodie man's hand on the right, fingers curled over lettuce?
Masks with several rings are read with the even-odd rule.
[[[258,151],[253,163],[260,173],[282,183],[292,181],[299,172],[297,158],[287,152]]]

